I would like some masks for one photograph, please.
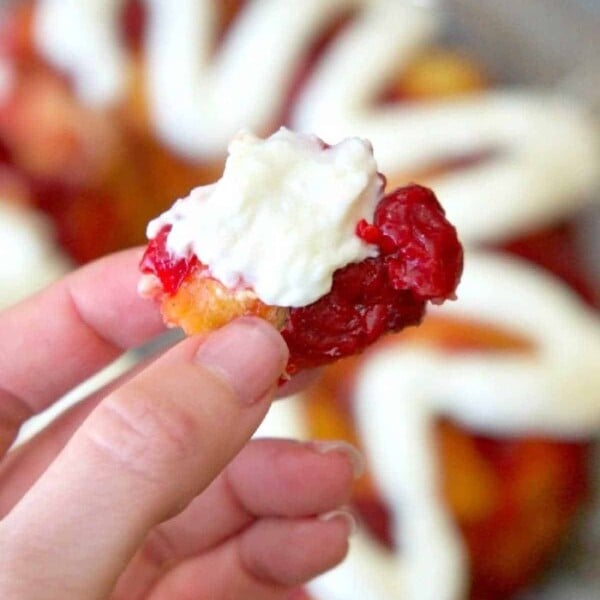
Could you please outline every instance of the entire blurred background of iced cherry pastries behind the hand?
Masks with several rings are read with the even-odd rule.
[[[239,128],[368,137],[390,185],[436,190],[465,279],[265,423],[369,461],[351,558],[306,597],[600,595],[600,2],[1,6],[0,308],[142,244]]]

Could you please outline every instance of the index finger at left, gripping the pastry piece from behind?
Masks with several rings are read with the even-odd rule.
[[[157,307],[137,294],[140,256],[100,259],[0,313],[0,421],[44,410],[164,330]]]

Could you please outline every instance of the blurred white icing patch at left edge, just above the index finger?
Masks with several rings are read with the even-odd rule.
[[[68,268],[46,219],[1,198],[0,256],[0,309],[41,289]]]

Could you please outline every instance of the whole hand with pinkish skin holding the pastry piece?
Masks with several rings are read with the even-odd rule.
[[[248,442],[287,360],[266,323],[185,340],[8,452],[27,418],[161,331],[137,258],[0,315],[0,597],[287,598],[344,557],[351,518],[331,511],[357,461],[343,444]]]

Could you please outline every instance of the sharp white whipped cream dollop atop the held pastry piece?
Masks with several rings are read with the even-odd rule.
[[[167,249],[195,254],[229,288],[266,304],[306,306],[331,290],[333,273],[377,255],[356,235],[381,197],[370,143],[328,147],[282,128],[267,139],[238,134],[222,178],[194,189],[148,226],[170,225]]]

